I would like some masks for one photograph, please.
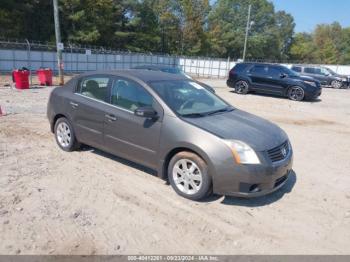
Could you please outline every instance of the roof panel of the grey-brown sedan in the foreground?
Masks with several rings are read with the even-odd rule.
[[[84,73],[80,76],[101,75],[101,74],[135,77],[144,82],[161,81],[161,80],[188,80],[188,78],[180,74],[177,75],[177,74],[170,74],[170,73],[165,73],[161,71],[140,70],[140,69],[93,71],[93,72]]]

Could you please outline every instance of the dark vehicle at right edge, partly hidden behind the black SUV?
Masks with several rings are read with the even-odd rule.
[[[300,75],[311,76],[317,79],[321,85],[337,89],[348,86],[350,82],[350,76],[339,75],[327,67],[293,65],[291,69]]]

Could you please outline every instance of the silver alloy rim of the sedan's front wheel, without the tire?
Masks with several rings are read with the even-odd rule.
[[[201,170],[192,160],[177,161],[173,167],[172,176],[176,187],[185,194],[196,194],[202,186]]]

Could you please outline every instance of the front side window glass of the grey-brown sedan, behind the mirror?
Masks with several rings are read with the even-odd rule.
[[[135,111],[139,107],[152,107],[153,97],[134,81],[116,79],[112,86],[110,102],[112,105]]]

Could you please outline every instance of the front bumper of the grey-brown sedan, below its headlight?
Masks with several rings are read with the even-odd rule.
[[[293,151],[278,162],[271,162],[267,157],[260,165],[232,165],[216,174],[214,193],[244,198],[270,194],[285,185],[292,173]]]

